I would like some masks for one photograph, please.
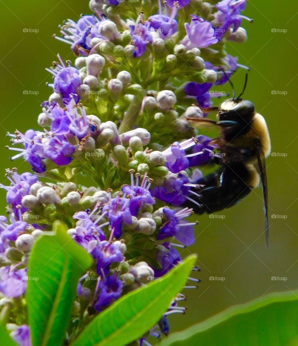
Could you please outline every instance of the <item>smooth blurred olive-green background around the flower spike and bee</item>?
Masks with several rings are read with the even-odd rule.
[[[87,14],[90,10],[88,2],[81,0],[0,0],[0,9],[0,172],[3,172],[0,182],[3,183],[6,167],[20,167],[21,172],[29,170],[22,160],[9,161],[6,132],[15,128],[22,132],[38,128],[40,104],[51,93],[45,85],[51,77],[44,68],[51,66],[58,52],[63,60],[74,60],[70,47],[53,40],[51,35],[58,34],[58,24],[64,19],[77,20],[82,12]],[[200,221],[196,227],[196,244],[184,249],[182,255],[198,254],[202,271],[194,276],[200,277],[202,282],[198,290],[186,292],[189,307],[186,316],[169,316],[172,331],[266,293],[298,288],[296,1],[284,2],[283,6],[280,1],[270,4],[248,1],[244,14],[254,19],[253,24],[243,21],[248,41],[242,45],[228,43],[227,51],[238,56],[239,63],[251,67],[245,98],[253,101],[256,110],[265,117],[272,152],[276,153],[267,159],[269,249],[265,247],[263,235],[261,188],[237,206],[219,213],[222,218],[194,217]],[[24,29],[39,31],[24,32]],[[243,88],[244,76],[244,70],[233,76],[237,93]],[[230,92],[228,85],[217,90]],[[4,212],[5,193],[1,193],[0,206]],[[211,276],[224,280],[210,280]]]

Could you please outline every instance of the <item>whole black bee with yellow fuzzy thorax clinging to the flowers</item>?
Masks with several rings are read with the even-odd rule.
[[[231,82],[230,82],[231,83]],[[265,158],[270,154],[271,144],[265,119],[255,111],[251,101],[239,97],[227,99],[220,107],[203,108],[203,112],[217,110],[217,121],[210,119],[186,118],[196,127],[217,127],[219,136],[209,144],[218,145],[221,159],[217,171],[195,183],[201,187],[199,194],[187,200],[185,206],[193,208],[197,214],[213,213],[234,206],[246,197],[260,181],[263,186],[265,211],[265,240],[268,247],[268,188]],[[233,84],[231,84],[233,87]],[[192,188],[198,192],[198,189]]]

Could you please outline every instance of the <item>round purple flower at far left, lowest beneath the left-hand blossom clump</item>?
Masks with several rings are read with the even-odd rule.
[[[44,155],[49,157],[58,166],[70,164],[71,155],[75,152],[75,147],[68,142],[64,136],[55,136],[47,143]]]

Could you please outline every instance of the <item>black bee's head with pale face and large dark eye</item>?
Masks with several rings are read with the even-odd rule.
[[[247,124],[253,119],[255,106],[251,101],[243,99],[227,99],[220,105],[219,121],[236,121],[239,125]]]

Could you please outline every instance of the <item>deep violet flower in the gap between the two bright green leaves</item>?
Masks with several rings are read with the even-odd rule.
[[[111,304],[111,302],[120,298],[123,283],[121,280],[117,279],[116,274],[114,274],[112,276],[107,276],[104,281],[101,280],[99,282],[99,289],[98,299],[94,306],[97,311],[103,310],[103,308]]]

